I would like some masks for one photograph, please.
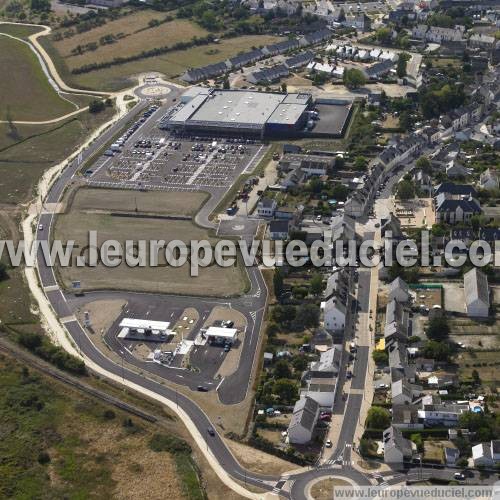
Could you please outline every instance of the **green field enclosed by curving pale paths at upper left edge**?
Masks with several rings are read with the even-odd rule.
[[[74,111],[49,85],[31,49],[23,42],[0,36],[1,120],[41,121]]]

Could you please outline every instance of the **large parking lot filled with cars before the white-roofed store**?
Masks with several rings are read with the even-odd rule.
[[[246,138],[175,136],[150,108],[85,171],[91,185],[130,189],[227,190],[265,152]]]

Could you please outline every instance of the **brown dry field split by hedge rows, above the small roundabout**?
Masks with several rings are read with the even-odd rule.
[[[202,37],[207,34],[205,29],[191,21],[183,19],[176,19],[155,28],[148,28],[137,32],[141,28],[146,28],[148,21],[162,19],[163,17],[165,15],[157,12],[138,12],[137,14],[112,21],[105,26],[100,26],[72,38],[54,42],[54,46],[59,50],[62,57],[65,58],[69,68],[72,69],[93,62],[111,61],[115,57],[138,54],[143,50],[149,50],[153,47],[170,46],[176,42],[187,42],[194,36]],[[124,33],[126,36],[115,43],[99,45],[99,39],[103,35],[117,35],[118,33]],[[71,50],[75,47],[91,42],[99,45],[97,50],[88,51],[78,56],[71,56]]]

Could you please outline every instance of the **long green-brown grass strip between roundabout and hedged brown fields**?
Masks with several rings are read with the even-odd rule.
[[[175,79],[188,68],[224,61],[239,52],[249,50],[252,46],[266,45],[279,40],[279,37],[267,35],[241,36],[81,75],[73,75],[70,72],[66,60],[56,50],[54,42],[47,39],[41,39],[41,42],[54,59],[61,77],[67,83],[81,88],[113,91],[132,86],[135,83],[134,76],[140,73],[158,71],[167,79]]]

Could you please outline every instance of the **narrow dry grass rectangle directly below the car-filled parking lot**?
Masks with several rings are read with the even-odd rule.
[[[207,193],[130,191],[117,189],[79,189],[71,204],[72,210],[135,212],[161,215],[194,215],[204,201]]]

